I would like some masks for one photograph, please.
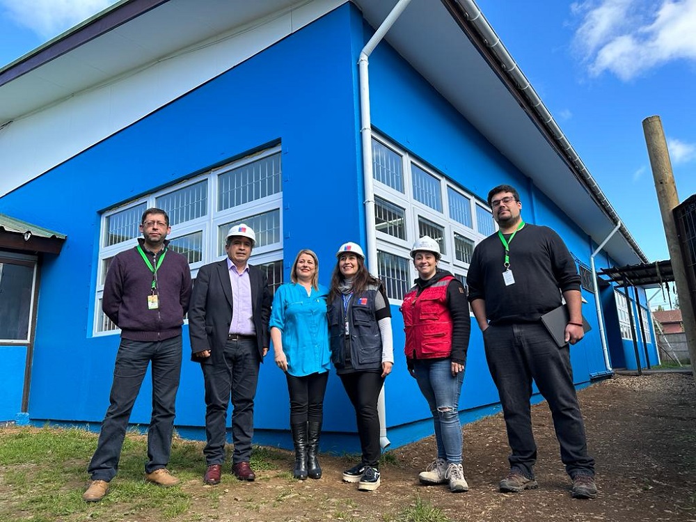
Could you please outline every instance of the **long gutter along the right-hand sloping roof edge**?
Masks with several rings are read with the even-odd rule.
[[[640,246],[638,246],[638,243],[635,242],[635,239],[633,239],[631,232],[628,232],[628,229],[622,225],[619,214],[617,214],[614,207],[612,207],[611,203],[609,203],[609,200],[604,195],[603,191],[599,187],[599,184],[597,184],[597,182],[594,180],[594,177],[592,177],[590,171],[587,170],[587,166],[585,166],[583,160],[580,159],[580,156],[576,150],[565,137],[563,131],[555,122],[553,116],[551,116],[551,112],[548,111],[544,105],[544,102],[541,101],[541,98],[532,87],[532,84],[530,84],[530,81],[527,79],[527,77],[525,77],[517,63],[515,63],[512,56],[510,56],[509,52],[507,52],[505,45],[503,45],[503,42],[496,34],[496,31],[493,29],[493,27],[491,27],[491,24],[489,24],[486,17],[484,17],[483,13],[476,5],[476,2],[474,0],[455,1],[459,3],[459,6],[464,11],[466,19],[468,19],[468,22],[474,26],[475,30],[482,38],[484,45],[486,45],[486,47],[490,49],[491,53],[493,53],[493,56],[496,57],[498,63],[500,64],[500,68],[502,68],[503,72],[507,74],[507,77],[512,81],[514,86],[516,86],[521,96],[527,100],[530,108],[532,111],[534,111],[537,118],[539,118],[541,125],[544,125],[544,127],[546,127],[548,130],[548,133],[553,136],[553,140],[555,141],[557,147],[562,151],[562,155],[564,155],[571,166],[573,166],[573,172],[576,174],[576,177],[578,177],[585,184],[585,187],[587,187],[594,197],[594,200],[599,204],[599,207],[603,209],[612,223],[619,223],[622,235],[631,248],[633,248],[635,254],[638,255],[640,261],[647,263],[648,258],[643,253]]]

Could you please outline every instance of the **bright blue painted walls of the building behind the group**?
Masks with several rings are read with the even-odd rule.
[[[286,280],[300,248],[317,252],[319,278],[328,283],[338,246],[364,244],[356,63],[370,33],[354,6],[342,6],[2,198],[3,212],[68,235],[61,255],[42,267],[32,419],[93,424],[106,411],[118,337],[91,333],[104,209],[280,142]],[[589,239],[384,43],[370,58],[370,87],[372,120],[382,134],[482,199],[490,180],[516,185],[525,219],[555,228],[587,262]],[[594,299],[586,298],[585,315],[596,326]],[[432,434],[432,424],[406,372],[403,322],[397,308],[392,311],[396,365],[386,386],[387,424],[398,445]],[[475,324],[472,330],[461,400],[465,419],[498,407],[480,331]],[[187,335],[184,327],[184,351]],[[603,369],[597,335],[595,327],[571,351],[578,383]],[[287,434],[277,431],[289,424],[285,378],[266,364],[259,382],[256,440],[289,445]],[[147,377],[132,422],[149,418]],[[176,422],[187,436],[203,436],[203,379],[196,363],[184,361]],[[353,409],[332,372],[324,430],[335,436],[325,437],[325,448],[356,450],[355,436],[338,434],[354,429]]]

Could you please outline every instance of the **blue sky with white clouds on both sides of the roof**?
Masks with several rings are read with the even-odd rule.
[[[696,193],[696,0],[476,1],[647,258],[668,259],[642,120],[661,118],[679,200]],[[0,0],[0,64],[112,3]]]

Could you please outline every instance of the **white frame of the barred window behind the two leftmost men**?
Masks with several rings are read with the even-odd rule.
[[[264,196],[258,200],[253,200],[243,205],[237,205],[236,207],[230,207],[224,210],[218,210],[218,176],[221,173],[225,173],[234,168],[239,168],[244,165],[253,163],[260,159],[264,159],[271,155],[280,154],[280,145],[262,150],[261,152],[254,152],[250,155],[242,157],[241,159],[236,159],[235,161],[230,161],[230,163],[223,165],[221,167],[212,168],[206,173],[196,175],[188,180],[178,182],[168,187],[164,187],[157,191],[153,191],[145,196],[141,196],[134,200],[129,200],[118,207],[113,207],[102,213],[101,225],[100,225],[100,237],[99,237],[99,253],[97,254],[97,274],[95,281],[95,301],[93,310],[93,327],[92,333],[94,336],[102,335],[113,335],[120,333],[120,329],[116,328],[115,325],[113,329],[100,330],[100,322],[103,318],[103,313],[100,306],[100,301],[104,294],[104,281],[102,280],[103,264],[104,260],[111,258],[119,252],[126,251],[128,248],[133,248],[138,244],[137,238],[127,239],[124,242],[120,242],[111,246],[103,246],[104,238],[106,237],[106,219],[121,212],[124,209],[135,207],[137,205],[142,205],[145,203],[145,208],[155,207],[155,202],[160,196],[171,193],[172,191],[183,189],[190,185],[196,184],[201,180],[207,179],[207,212],[205,215],[200,216],[196,219],[191,219],[190,221],[184,221],[173,226],[171,235],[168,239],[177,239],[185,235],[189,235],[193,232],[203,232],[203,256],[198,262],[189,264],[191,268],[191,278],[196,279],[198,276],[198,269],[204,264],[211,262],[223,260],[225,258],[224,253],[219,254],[219,244],[218,244],[218,228],[223,223],[239,223],[244,218],[248,216],[253,216],[255,214],[262,214],[264,212],[269,212],[273,210],[278,210],[280,214],[279,223],[279,241],[265,245],[260,248],[254,248],[253,251],[253,264],[264,264],[275,261],[283,260],[283,170],[282,163],[280,172],[280,191],[278,193],[271,194],[270,196]],[[282,157],[281,157],[282,160]],[[139,236],[140,237],[140,236]],[[108,318],[105,319],[108,321]],[[185,324],[188,323],[186,319]]]

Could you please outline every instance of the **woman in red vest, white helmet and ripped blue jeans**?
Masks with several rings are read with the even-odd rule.
[[[423,484],[450,484],[468,491],[461,466],[459,395],[464,380],[471,320],[466,290],[450,272],[438,269],[440,246],[432,237],[411,249],[416,285],[404,296],[406,363],[433,416],[437,457],[418,475]]]

